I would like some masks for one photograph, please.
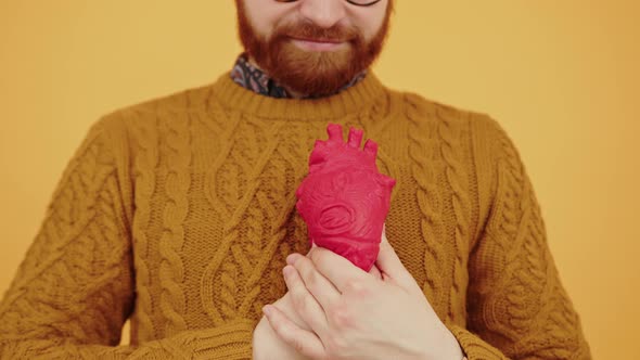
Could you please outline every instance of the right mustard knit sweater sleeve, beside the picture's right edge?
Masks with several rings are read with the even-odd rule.
[[[450,330],[470,360],[590,359],[520,154],[494,119],[474,126],[490,208],[470,255],[469,330]]]

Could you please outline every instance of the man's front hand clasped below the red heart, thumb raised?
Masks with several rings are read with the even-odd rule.
[[[323,248],[292,254],[285,282],[302,329],[273,306],[265,313],[276,334],[311,359],[462,359],[453,335],[424,297],[383,234],[368,275]]]

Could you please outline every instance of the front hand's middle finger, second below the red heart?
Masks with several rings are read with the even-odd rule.
[[[320,247],[312,248],[309,257],[296,256],[294,254],[286,258],[286,262],[297,270],[302,277],[305,288],[313,295],[322,309],[328,310],[333,304],[340,300],[340,292],[316,269],[316,266],[310,259],[311,254],[319,248]]]

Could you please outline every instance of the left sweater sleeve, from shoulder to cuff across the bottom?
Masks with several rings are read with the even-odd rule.
[[[0,358],[251,359],[249,320],[117,346],[136,290],[126,182],[106,124],[67,165],[0,303]]]

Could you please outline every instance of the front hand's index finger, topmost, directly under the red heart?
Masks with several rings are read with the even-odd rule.
[[[368,281],[371,277],[344,257],[323,247],[316,247],[310,254],[318,272],[329,280],[340,293],[354,281]]]

